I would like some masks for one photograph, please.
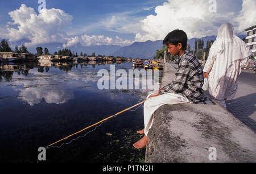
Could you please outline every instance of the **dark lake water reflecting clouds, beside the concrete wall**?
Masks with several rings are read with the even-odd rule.
[[[38,148],[56,142],[146,98],[149,90],[100,90],[97,72],[123,63],[28,63],[1,65],[0,161],[38,161]],[[14,70],[15,69],[15,70]],[[162,73],[159,73],[162,76]],[[135,110],[136,108],[132,109]],[[141,139],[143,106],[111,118],[48,148],[46,162],[143,162]]]

